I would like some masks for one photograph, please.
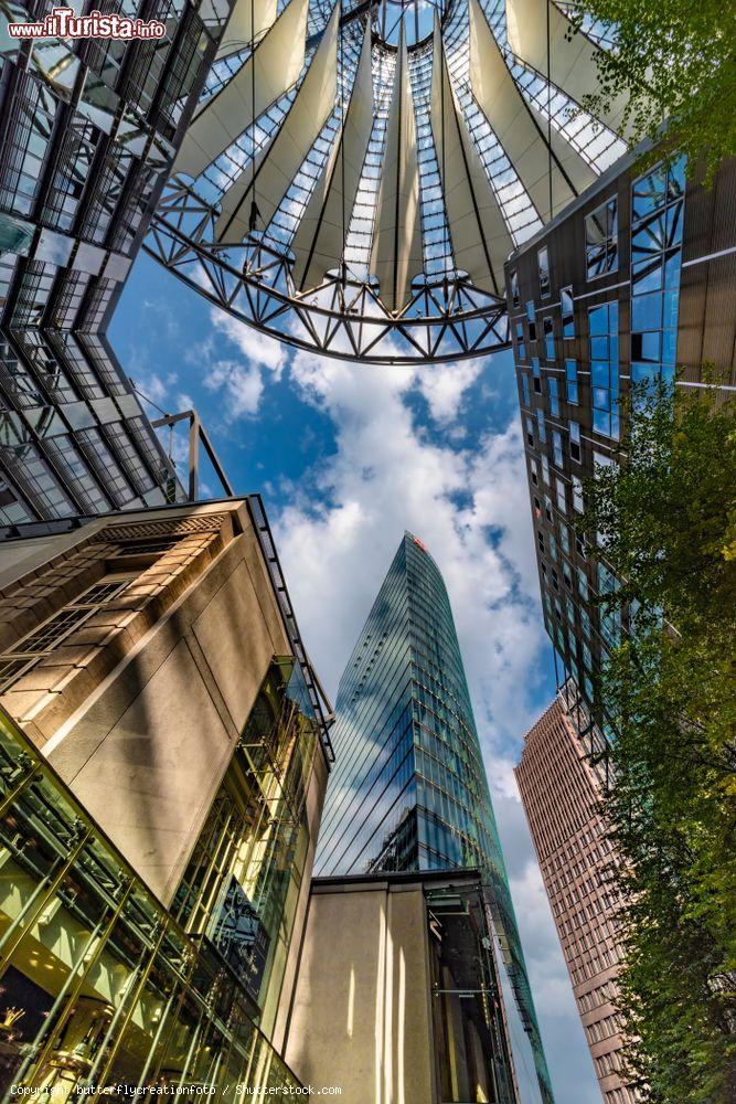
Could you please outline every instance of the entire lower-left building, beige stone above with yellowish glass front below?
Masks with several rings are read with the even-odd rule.
[[[3,552],[3,1092],[299,1086],[331,747],[260,500]]]

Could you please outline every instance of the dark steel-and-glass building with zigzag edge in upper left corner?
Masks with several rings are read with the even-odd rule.
[[[135,18],[135,0],[111,3]],[[13,6],[12,22],[46,13]],[[181,499],[106,329],[230,14],[140,7],[162,39],[0,49],[0,533]]]

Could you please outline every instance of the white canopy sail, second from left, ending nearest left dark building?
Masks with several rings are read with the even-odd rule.
[[[291,0],[243,68],[202,105],[186,128],[174,172],[199,177],[297,81],[305,65],[308,11],[309,0]]]

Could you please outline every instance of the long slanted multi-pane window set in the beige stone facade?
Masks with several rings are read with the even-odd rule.
[[[0,693],[75,633],[93,614],[109,605],[132,582],[135,575],[110,575],[94,583],[49,620],[40,625],[0,657]]]

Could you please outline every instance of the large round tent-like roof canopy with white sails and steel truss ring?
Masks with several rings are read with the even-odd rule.
[[[505,258],[626,148],[599,49],[553,0],[235,0],[147,248],[323,353],[492,351]]]

